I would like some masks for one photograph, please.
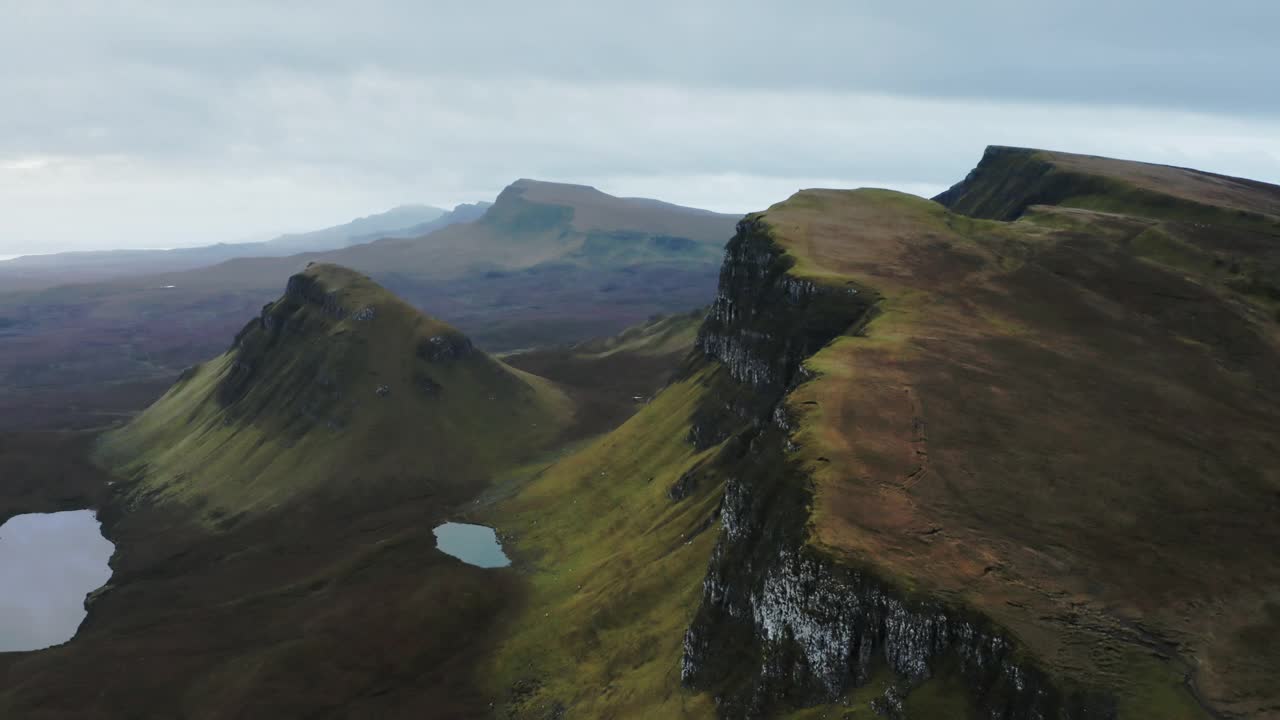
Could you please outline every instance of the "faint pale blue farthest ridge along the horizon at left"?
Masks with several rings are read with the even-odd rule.
[[[223,242],[174,250],[93,250],[24,255],[0,261],[0,290],[32,291],[129,275],[178,272],[225,263],[233,258],[274,258],[337,250],[380,237],[416,237],[417,228],[440,228],[475,219],[474,205],[444,211],[426,205],[401,205],[320,231],[282,234],[262,242]],[[411,229],[412,228],[412,229]]]

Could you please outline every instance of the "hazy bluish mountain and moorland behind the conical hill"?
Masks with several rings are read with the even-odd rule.
[[[608,336],[709,302],[737,219],[536,181],[447,218],[477,213],[421,237],[0,293],[0,427],[96,427],[146,406],[312,261],[369,274],[486,350]]]

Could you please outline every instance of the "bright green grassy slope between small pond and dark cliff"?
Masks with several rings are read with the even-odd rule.
[[[681,688],[680,657],[721,483],[678,502],[668,489],[716,452],[685,439],[714,372],[669,386],[617,430],[513,480],[513,497],[476,512],[529,571],[526,606],[484,671],[506,711],[559,703],[576,717],[713,715],[708,697]]]

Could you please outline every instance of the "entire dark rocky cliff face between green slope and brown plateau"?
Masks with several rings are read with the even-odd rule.
[[[858,332],[874,292],[790,269],[764,222],[745,219],[698,340],[732,387],[712,393],[718,400],[695,416],[690,439],[736,442],[717,460],[727,477],[721,538],[685,637],[684,682],[716,693],[722,716],[756,717],[835,702],[887,666],[897,683],[878,710],[897,716],[902,697],[945,665],[965,678],[986,717],[1114,717],[1107,698],[1055,688],[983,618],[909,597],[806,544],[810,488],[792,455],[785,397],[806,379],[808,356]]]

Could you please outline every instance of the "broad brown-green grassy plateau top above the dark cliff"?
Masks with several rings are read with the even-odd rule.
[[[810,542],[980,610],[1053,673],[1117,692],[1121,716],[1201,716],[1170,694],[1180,674],[1211,707],[1275,711],[1280,232],[1262,213],[1280,188],[996,149],[943,201],[1015,208],[1010,155],[1208,210],[1121,192],[1005,223],[814,190],[756,215],[791,274],[882,297],[788,400]]]

